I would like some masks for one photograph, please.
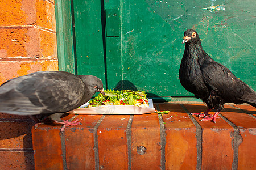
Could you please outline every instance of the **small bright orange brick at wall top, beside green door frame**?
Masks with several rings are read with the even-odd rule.
[[[56,30],[55,23],[55,5],[54,2],[36,0],[36,25]]]

